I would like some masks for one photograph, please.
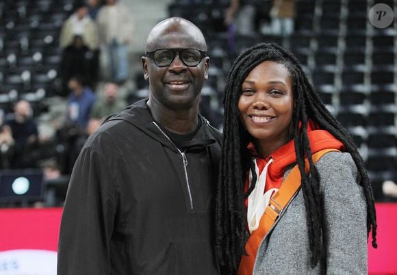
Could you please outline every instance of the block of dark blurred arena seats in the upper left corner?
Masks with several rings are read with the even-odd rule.
[[[1,94],[17,92],[17,99],[37,90],[44,91],[44,96],[56,94],[57,41],[72,8],[71,0],[0,3]]]

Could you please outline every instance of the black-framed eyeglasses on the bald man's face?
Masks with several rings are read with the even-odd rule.
[[[175,57],[179,54],[179,58],[183,64],[188,67],[195,67],[200,64],[203,57],[207,56],[206,51],[198,49],[157,49],[155,51],[146,52],[146,57],[150,57],[157,66],[166,67],[170,66]]]

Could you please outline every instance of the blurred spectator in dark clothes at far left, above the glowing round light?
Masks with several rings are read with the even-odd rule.
[[[34,168],[38,160],[38,129],[32,118],[33,112],[28,101],[18,101],[12,118],[5,122],[15,141],[15,150],[10,168]]]

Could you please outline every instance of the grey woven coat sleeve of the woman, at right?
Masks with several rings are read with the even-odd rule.
[[[348,153],[318,161],[324,209],[326,274],[367,274],[366,200]]]

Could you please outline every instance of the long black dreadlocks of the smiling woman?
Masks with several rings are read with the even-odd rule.
[[[242,92],[242,82],[257,65],[271,60],[283,64],[290,72],[294,90],[294,115],[292,118],[296,162],[302,175],[301,188],[305,199],[307,223],[309,227],[309,246],[311,265],[315,267],[320,259],[322,239],[322,208],[320,204],[320,176],[313,165],[309,138],[306,127],[298,127],[299,122],[307,125],[311,119],[320,127],[329,131],[346,146],[346,152],[352,155],[360,175],[367,205],[367,232],[372,229],[372,246],[376,248],[376,213],[372,187],[363,159],[348,132],[330,114],[313,90],[302,67],[292,53],[277,44],[261,43],[241,53],[227,76],[225,86],[224,129],[220,176],[216,194],[216,250],[223,274],[235,274],[244,252],[248,238],[246,232],[246,211],[244,200],[244,178],[251,166],[251,156],[246,146],[252,137],[244,131],[238,112],[238,100]],[[305,173],[305,156],[310,164]],[[252,189],[252,188],[251,188]]]

